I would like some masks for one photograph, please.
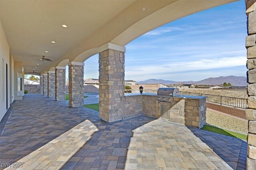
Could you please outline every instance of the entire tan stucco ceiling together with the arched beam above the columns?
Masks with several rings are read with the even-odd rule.
[[[42,74],[68,59],[83,62],[105,43],[126,45],[163,24],[234,1],[0,0],[0,20],[14,60],[25,72]],[[42,55],[53,62],[41,61]]]

